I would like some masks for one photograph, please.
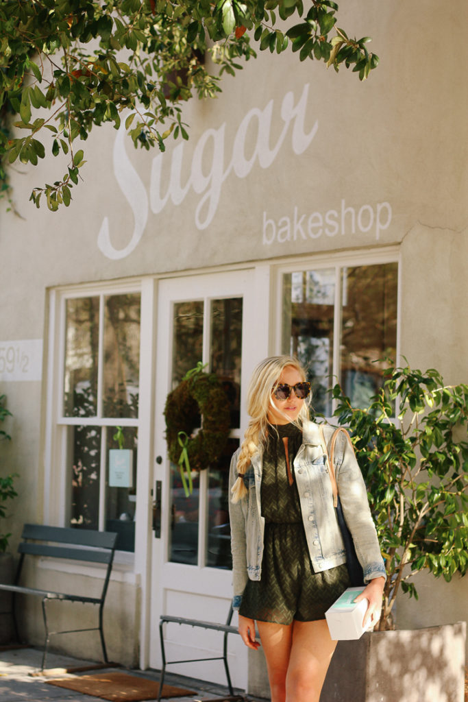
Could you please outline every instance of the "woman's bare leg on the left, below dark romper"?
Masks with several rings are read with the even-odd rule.
[[[272,702],[286,702],[286,675],[290,661],[293,624],[258,621],[257,626],[267,659]]]

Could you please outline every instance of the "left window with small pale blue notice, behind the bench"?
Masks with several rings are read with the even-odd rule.
[[[133,551],[140,292],[65,298],[62,339],[65,520],[116,531],[117,548]]]

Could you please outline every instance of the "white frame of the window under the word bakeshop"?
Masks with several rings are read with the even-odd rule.
[[[274,348],[276,354],[281,354],[282,343],[282,319],[283,319],[283,275],[287,273],[302,272],[305,270],[326,270],[335,269],[336,281],[340,282],[340,271],[343,267],[357,267],[365,265],[382,265],[385,263],[396,263],[398,265],[397,274],[397,300],[396,300],[396,363],[400,358],[400,324],[401,324],[401,252],[399,246],[388,246],[382,249],[361,250],[361,251],[335,251],[323,252],[315,256],[302,256],[293,258],[287,262],[281,262],[275,266],[274,275]],[[341,285],[335,285],[335,314],[333,317],[333,378],[340,377],[340,329],[341,329]],[[333,412],[336,409],[336,400],[332,400],[332,416],[327,420],[332,420]]]

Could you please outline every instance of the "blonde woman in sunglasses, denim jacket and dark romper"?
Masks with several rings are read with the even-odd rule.
[[[272,702],[319,702],[336,642],[325,612],[349,587],[319,426],[309,421],[310,385],[297,359],[265,359],[248,388],[250,422],[231,462],[234,609],[246,646],[257,622]],[[324,427],[328,444],[333,429]],[[341,433],[335,472],[363,567],[366,628],[377,622],[385,567],[352,446]]]

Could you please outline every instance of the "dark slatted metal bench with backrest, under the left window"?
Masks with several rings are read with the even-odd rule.
[[[15,582],[13,585],[0,583],[0,590],[13,592],[12,615],[15,635],[18,641],[15,595],[37,595],[42,598],[42,615],[46,628],[46,638],[44,641],[41,670],[44,670],[46,665],[50,637],[56,634],[72,634],[79,631],[99,630],[104,661],[105,663],[109,663],[104,640],[104,631],[102,629],[102,614],[112,563],[114,561],[117,536],[117,534],[110,531],[93,531],[91,529],[70,529],[67,527],[45,527],[42,524],[25,524],[21,535],[22,541],[18,546],[20,560],[18,562],[18,568],[16,569]],[[100,595],[98,597],[89,597],[88,595],[55,592],[55,590],[40,590],[39,588],[29,588],[26,585],[20,585],[22,567],[25,562],[25,556],[27,555],[105,564],[107,569],[105,571],[104,583]],[[47,619],[47,602],[49,600],[97,604],[99,607],[99,625],[92,628],[50,631]]]

